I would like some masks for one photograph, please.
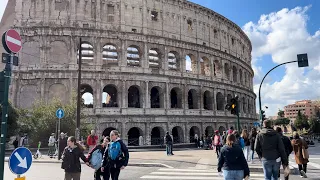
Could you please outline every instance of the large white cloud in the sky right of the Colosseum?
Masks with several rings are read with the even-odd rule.
[[[243,26],[253,45],[252,66],[257,95],[264,74],[262,67],[257,67],[256,63],[261,61],[262,56],[271,55],[273,62],[280,64],[297,60],[297,54],[308,53],[309,68],[298,68],[297,63],[289,64],[285,66],[285,75],[280,81],[264,82],[261,98],[262,107],[269,107],[267,116],[276,115],[278,109],[283,109],[288,103],[320,96],[320,30],[314,34],[307,30],[307,12],[310,8],[284,8],[261,15],[258,22],[248,22]],[[266,72],[269,69],[263,70]]]

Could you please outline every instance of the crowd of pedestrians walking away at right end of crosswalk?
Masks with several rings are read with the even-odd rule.
[[[219,136],[219,135],[216,135]],[[277,180],[280,178],[280,167],[283,166],[285,180],[289,179],[289,155],[292,151],[295,154],[295,160],[298,164],[301,177],[307,178],[308,163],[308,145],[299,136],[294,133],[293,140],[283,135],[282,129],[272,128],[271,121],[263,122],[263,128],[257,133],[252,128],[250,134],[243,130],[241,135],[229,129],[222,136],[221,148],[216,148],[218,160],[218,172],[223,170],[225,180],[249,179],[250,170],[248,162],[253,162],[254,153],[262,163],[264,177],[266,180]]]

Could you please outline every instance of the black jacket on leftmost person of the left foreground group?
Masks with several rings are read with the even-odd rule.
[[[87,158],[79,147],[74,149],[66,147],[62,155],[61,168],[64,169],[65,172],[69,173],[81,172],[80,158],[84,162],[87,162]]]

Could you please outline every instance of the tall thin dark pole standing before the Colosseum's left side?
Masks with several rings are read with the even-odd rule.
[[[78,92],[77,92],[77,127],[75,137],[80,140],[80,108],[81,108],[81,64],[82,64],[82,39],[79,43],[79,62],[78,62]]]

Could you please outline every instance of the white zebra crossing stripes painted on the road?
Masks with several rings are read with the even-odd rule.
[[[148,175],[140,177],[140,179],[222,180],[223,177],[219,176],[217,170],[161,168],[155,172],[151,172]],[[264,180],[263,173],[251,173],[250,180]]]

